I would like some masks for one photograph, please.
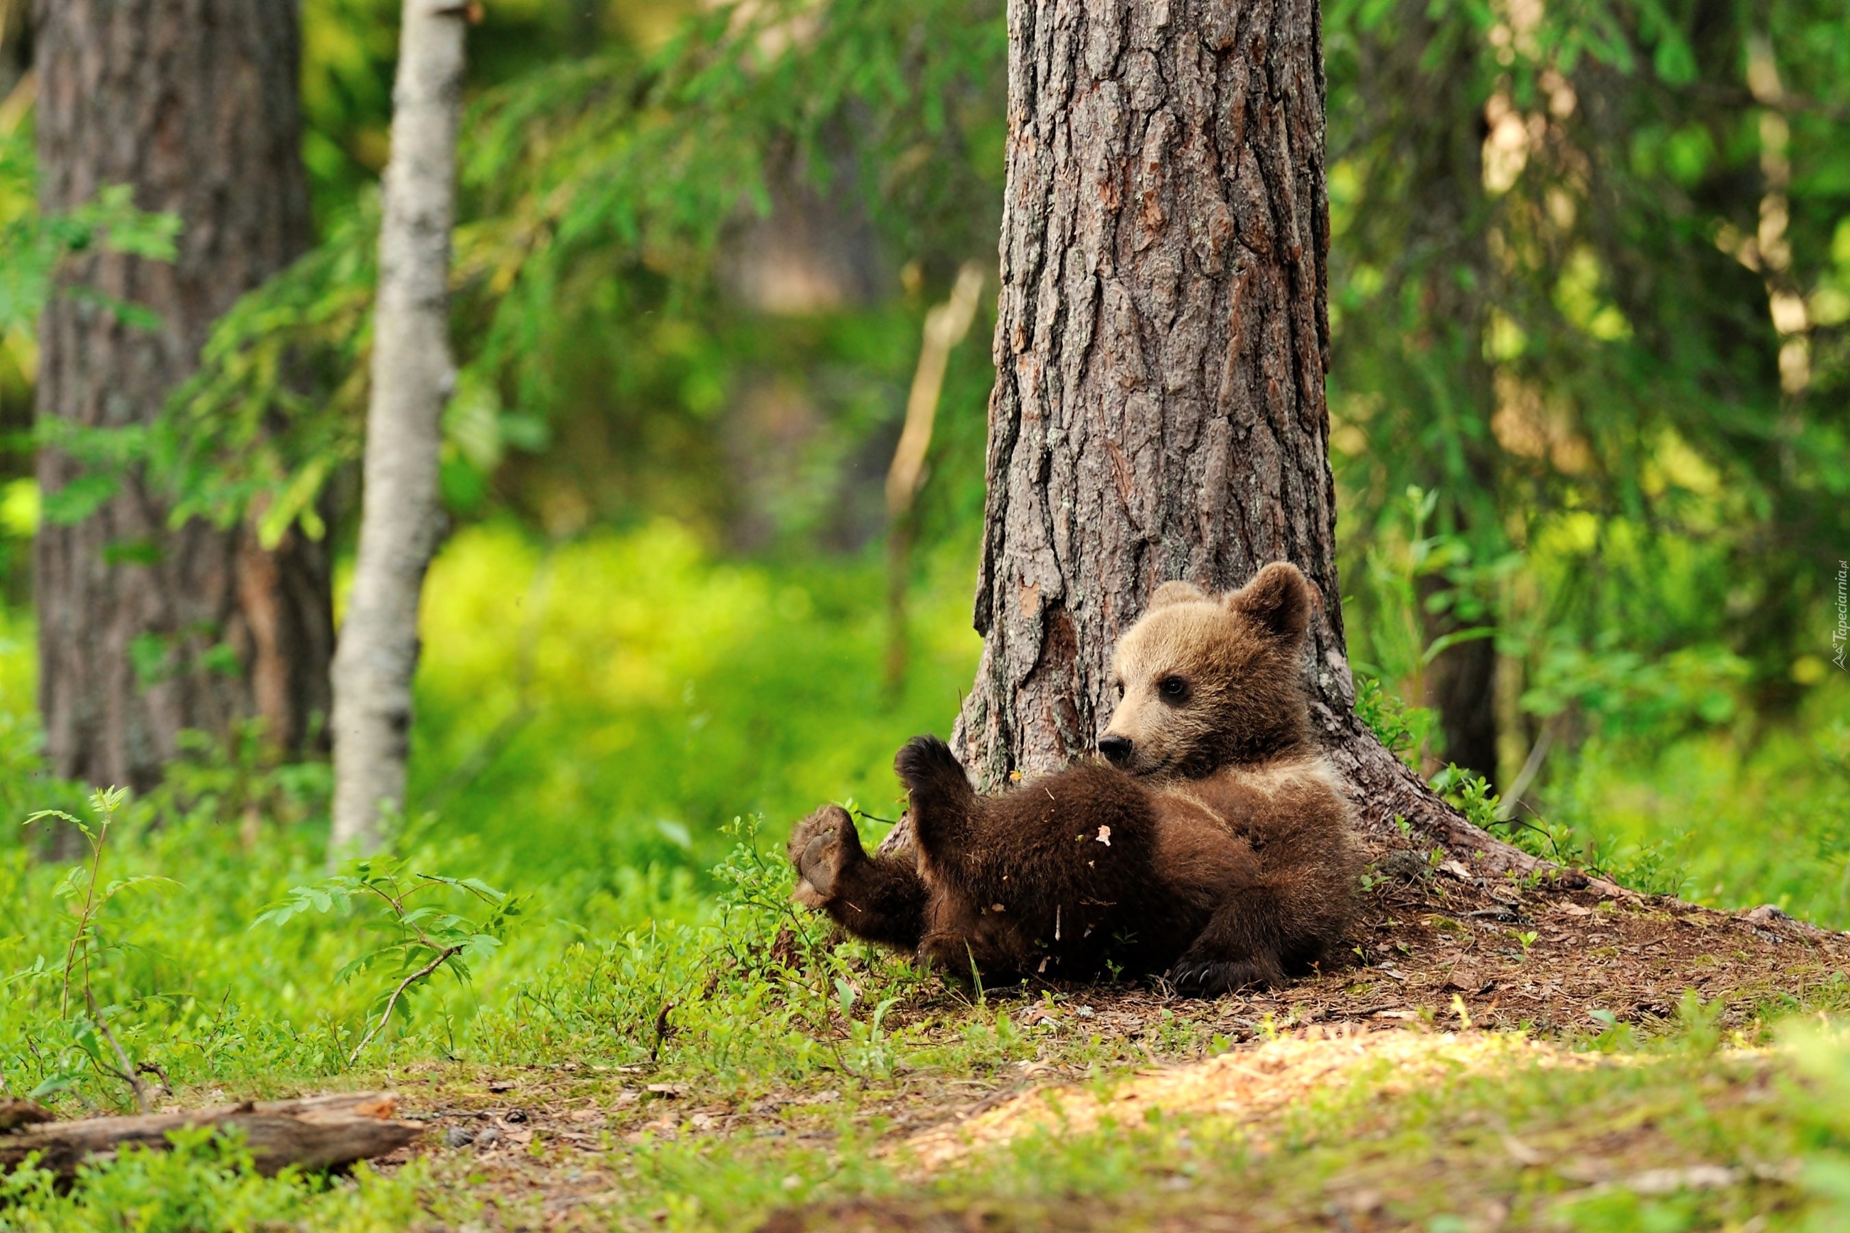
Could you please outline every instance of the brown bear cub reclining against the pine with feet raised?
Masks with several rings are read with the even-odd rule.
[[[1123,969],[1217,995],[1321,961],[1360,856],[1299,682],[1312,604],[1288,564],[1225,597],[1166,582],[1112,660],[1112,765],[979,797],[914,738],[894,767],[916,850],[870,858],[825,806],[790,837],[797,902],[984,980]]]

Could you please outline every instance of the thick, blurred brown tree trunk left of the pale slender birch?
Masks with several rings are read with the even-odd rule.
[[[39,416],[148,423],[213,320],[311,242],[300,155],[296,6],[276,0],[39,0],[39,201],[52,214],[109,185],[179,216],[174,262],[74,262],[41,324]],[[96,296],[154,309],[124,324]],[[39,484],[81,479],[39,455]],[[57,775],[146,787],[181,728],[261,715],[300,749],[329,708],[324,545],[265,551],[244,529],[172,531],[130,481],[96,514],[39,531],[39,697]]]

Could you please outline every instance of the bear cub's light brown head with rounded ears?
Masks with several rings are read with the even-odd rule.
[[[1099,752],[1132,775],[1201,778],[1310,741],[1299,656],[1315,588],[1284,562],[1238,592],[1164,582],[1117,641]]]

